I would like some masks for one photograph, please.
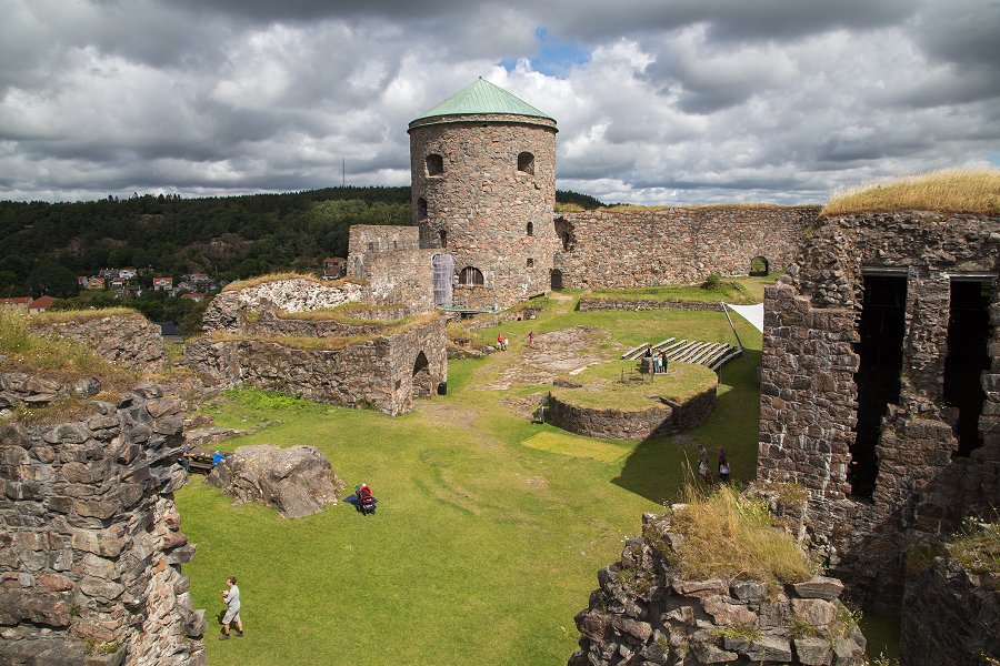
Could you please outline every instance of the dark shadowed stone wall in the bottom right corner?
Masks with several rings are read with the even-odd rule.
[[[899,637],[907,666],[962,666],[1000,662],[1000,576],[976,575],[937,557],[909,577]]]

